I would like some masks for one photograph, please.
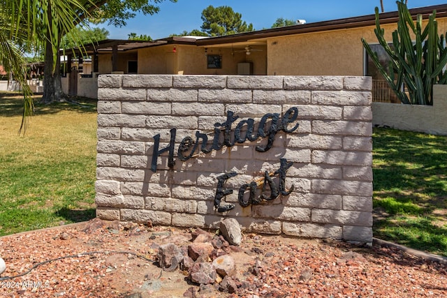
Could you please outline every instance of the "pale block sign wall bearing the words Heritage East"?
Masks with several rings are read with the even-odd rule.
[[[247,232],[372,241],[370,77],[101,75],[98,87],[99,218],[233,217]]]

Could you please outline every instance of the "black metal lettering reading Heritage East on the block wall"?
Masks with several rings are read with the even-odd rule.
[[[223,123],[215,123],[214,124],[214,137],[208,142],[208,135],[205,133],[200,133],[200,131],[196,131],[196,140],[193,140],[192,137],[184,137],[183,140],[179,144],[179,148],[177,150],[177,157],[180,161],[187,161],[189,158],[196,156],[196,152],[198,150],[207,154],[213,150],[220,150],[223,146],[233,147],[235,143],[242,144],[247,140],[249,142],[255,142],[259,138],[268,137],[267,144],[265,146],[258,145],[256,146],[256,151],[265,152],[272,148],[274,137],[279,131],[284,131],[284,133],[291,133],[295,131],[299,124],[293,122],[298,118],[298,108],[291,107],[288,109],[282,117],[278,113],[267,113],[265,114],[258,124],[258,129],[255,131],[255,121],[254,119],[244,119],[239,121],[236,125],[234,131],[231,126],[235,121],[239,118],[239,116],[235,116],[233,112],[228,111],[226,121]],[[270,124],[267,125],[267,124]],[[292,126],[291,128],[289,128]],[[156,162],[161,154],[168,152],[168,167],[173,168],[175,165],[174,159],[174,148],[175,148],[175,135],[177,129],[172,128],[170,130],[170,142],[167,147],[163,149],[159,149],[160,145],[160,134],[154,135],[154,151],[152,154],[152,163],[151,170],[152,172],[156,172]],[[258,183],[256,181],[251,181],[249,184],[244,184],[240,187],[238,193],[238,201],[242,207],[247,207],[249,204],[259,204],[263,200],[274,200],[281,195],[288,195],[293,191],[293,186],[290,190],[286,191],[285,187],[285,179],[286,179],[286,171],[290,168],[293,163],[288,163],[286,158],[280,158],[280,167],[279,170],[275,171],[272,174],[265,172],[263,179],[263,189],[262,194],[256,198],[256,188]],[[217,208],[219,212],[225,212],[231,210],[235,207],[234,204],[221,204],[221,200],[230,193],[233,193],[233,190],[224,189],[223,183],[237,175],[236,172],[230,172],[223,174],[218,179],[217,191],[214,197],[214,207]],[[273,181],[272,176],[279,176],[279,185]],[[270,187],[270,195],[265,195],[266,186]],[[249,199],[244,200],[245,191],[249,190]]]

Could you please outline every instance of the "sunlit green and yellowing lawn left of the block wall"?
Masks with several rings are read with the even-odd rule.
[[[24,136],[21,112],[0,93],[0,235],[93,218],[96,100],[36,103]]]

